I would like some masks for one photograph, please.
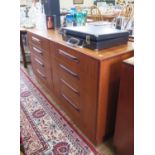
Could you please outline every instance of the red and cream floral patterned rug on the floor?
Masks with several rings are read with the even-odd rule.
[[[21,70],[20,126],[26,155],[99,155]]]

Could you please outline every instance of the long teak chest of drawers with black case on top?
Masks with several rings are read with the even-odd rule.
[[[69,47],[57,31],[29,30],[33,71],[57,104],[94,143],[113,133],[120,65],[133,45],[100,52]]]

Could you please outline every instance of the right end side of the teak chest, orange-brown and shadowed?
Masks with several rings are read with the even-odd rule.
[[[121,62],[133,53],[113,57],[100,63],[98,115],[96,141],[101,143],[106,136],[111,136],[114,131],[115,113],[119,92]]]

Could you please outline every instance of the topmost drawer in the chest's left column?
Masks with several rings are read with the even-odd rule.
[[[43,49],[45,51],[49,50],[49,40],[30,32],[28,33],[28,39],[30,44],[35,45],[39,49]]]

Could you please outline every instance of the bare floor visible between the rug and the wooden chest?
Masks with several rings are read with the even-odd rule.
[[[29,64],[28,65],[28,68],[25,69],[23,67],[23,65],[21,64],[21,67],[31,76],[31,78],[36,82],[36,84],[38,85],[38,87],[44,92],[46,93],[46,96],[51,100],[52,103],[54,103],[61,111],[63,111],[63,109],[61,109],[57,104],[56,102],[51,98],[51,96],[48,94],[48,92],[43,88],[42,85],[40,85],[37,80],[35,79],[35,76],[33,74],[33,71],[32,71],[32,68],[31,68],[31,65]],[[65,115],[67,118],[68,116]],[[68,118],[70,120],[70,118]],[[72,122],[70,120],[70,122]],[[74,123],[73,123],[74,125]],[[74,125],[75,126],[75,125]],[[79,129],[77,129],[79,132],[81,132]],[[82,134],[83,135],[83,134]],[[83,135],[84,136],[84,135]],[[85,136],[84,136],[85,137]],[[109,139],[108,141],[100,144],[99,146],[96,147],[96,149],[101,153],[101,155],[115,155],[114,153],[114,148],[113,148],[113,145],[112,145],[112,139]]]

